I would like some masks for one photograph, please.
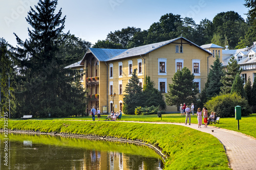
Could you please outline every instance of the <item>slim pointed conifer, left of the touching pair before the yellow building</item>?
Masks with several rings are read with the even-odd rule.
[[[124,106],[123,106],[123,113],[124,114],[134,114],[135,108],[137,106],[143,105],[142,98],[142,87],[139,85],[139,78],[136,75],[137,69],[134,69],[132,73],[132,77],[129,80],[129,83],[126,84],[124,89]]]

